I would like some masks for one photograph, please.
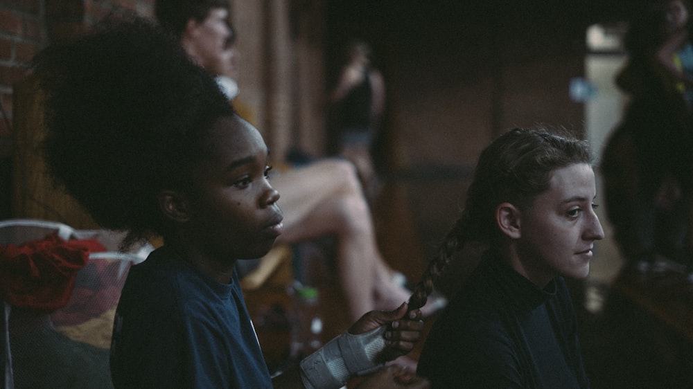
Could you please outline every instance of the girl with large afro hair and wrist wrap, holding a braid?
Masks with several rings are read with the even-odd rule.
[[[372,311],[270,379],[235,263],[270,251],[283,230],[267,146],[216,82],[146,21],[42,51],[46,162],[98,224],[164,246],[132,266],[111,344],[116,388],[425,388],[398,368],[421,312]],[[406,317],[405,317],[406,316]],[[342,353],[342,350],[349,352]]]

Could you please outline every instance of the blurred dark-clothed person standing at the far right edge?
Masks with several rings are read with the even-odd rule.
[[[671,73],[672,37],[686,20],[681,1],[652,3],[634,17],[624,39],[629,60],[615,82],[629,103],[600,168],[625,271],[659,271],[658,255],[693,264],[693,127],[683,84]],[[663,47],[669,47],[668,67],[661,62]]]

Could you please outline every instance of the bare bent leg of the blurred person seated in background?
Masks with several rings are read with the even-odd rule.
[[[326,160],[272,179],[281,194],[284,233],[295,243],[325,235],[337,239],[337,269],[356,320],[373,309],[394,309],[409,298],[389,277],[378,251],[373,221],[353,165]]]

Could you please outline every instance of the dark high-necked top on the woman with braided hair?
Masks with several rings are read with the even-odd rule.
[[[565,280],[539,289],[485,257],[433,325],[417,372],[434,388],[588,388]]]

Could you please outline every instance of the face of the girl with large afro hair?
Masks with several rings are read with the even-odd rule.
[[[267,179],[267,146],[236,116],[220,118],[210,133],[207,158],[193,167],[186,228],[210,258],[261,257],[281,234],[283,218]]]

